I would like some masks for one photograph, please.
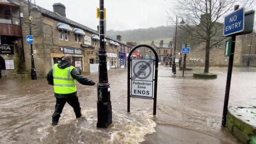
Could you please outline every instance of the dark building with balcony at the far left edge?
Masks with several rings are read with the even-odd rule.
[[[20,4],[0,0],[0,77],[21,76],[24,63]]]

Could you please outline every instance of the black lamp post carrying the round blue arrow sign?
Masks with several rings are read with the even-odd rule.
[[[29,34],[32,35],[31,30],[31,20],[30,20],[30,12],[31,12],[31,0],[28,1],[28,19],[30,21],[29,23]],[[37,80],[37,71],[35,68],[35,62],[33,57],[33,44],[30,44],[30,50],[31,50],[31,80]]]

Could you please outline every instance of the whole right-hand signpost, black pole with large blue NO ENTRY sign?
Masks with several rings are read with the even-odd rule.
[[[234,61],[234,52],[235,52],[235,37],[236,35],[246,34],[248,32],[252,32],[253,29],[253,18],[254,11],[247,12],[247,19],[245,20],[245,11],[244,8],[238,9],[239,5],[235,5],[235,11],[224,18],[224,28],[223,35],[230,36],[231,35],[231,50],[229,54],[229,43],[226,42],[225,55],[229,56],[229,67],[228,67],[228,75],[226,82],[226,91],[225,91],[225,99],[224,99],[224,107],[222,114],[222,126],[226,126],[227,120],[227,112],[229,105],[229,91],[231,84],[231,76],[232,76],[232,68]],[[252,17],[253,16],[253,17]],[[250,18],[251,17],[251,18]],[[245,30],[244,30],[245,29]]]

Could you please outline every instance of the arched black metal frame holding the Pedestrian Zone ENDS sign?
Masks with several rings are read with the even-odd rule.
[[[155,54],[155,60],[154,57],[152,57],[153,59],[131,59],[133,51],[140,47],[150,48]],[[136,97],[144,99],[154,99],[153,115],[156,115],[157,75],[158,55],[155,49],[146,44],[140,44],[135,46],[128,55],[127,112],[130,112],[130,97]]]

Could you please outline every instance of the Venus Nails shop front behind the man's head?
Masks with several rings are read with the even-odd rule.
[[[84,71],[84,52],[80,48],[63,47],[60,48],[59,53],[51,53],[52,66],[53,64],[59,63],[64,54],[69,54],[72,56],[72,65],[77,71]]]

